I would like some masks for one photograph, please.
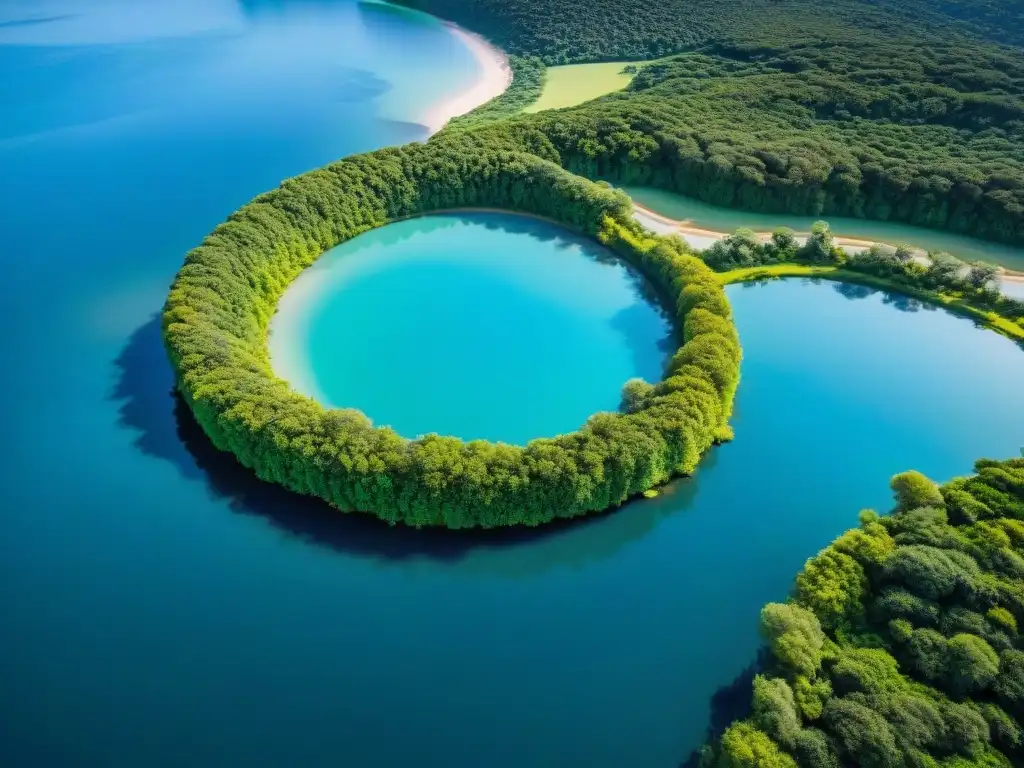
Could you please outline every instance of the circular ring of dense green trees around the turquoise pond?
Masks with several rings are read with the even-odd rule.
[[[679,350],[655,385],[630,382],[622,413],[525,446],[409,440],[354,410],[327,410],[275,378],[266,348],[287,286],[322,253],[397,218],[458,207],[542,215],[597,238],[672,310]],[[163,313],[184,400],[212,442],[260,478],[389,523],[538,525],[605,510],[692,472],[728,419],[740,347],[714,272],[651,237],[629,199],[532,155],[429,144],[349,158],[281,184],[190,252]],[[416,380],[411,375],[409,386]]]

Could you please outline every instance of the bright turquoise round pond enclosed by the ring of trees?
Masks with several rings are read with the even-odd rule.
[[[326,253],[285,292],[274,372],[407,437],[522,444],[618,407],[675,347],[649,285],[541,219],[435,214]]]

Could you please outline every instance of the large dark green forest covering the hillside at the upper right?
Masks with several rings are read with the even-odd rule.
[[[951,4],[418,4],[547,63],[679,52],[626,93],[486,129],[575,173],[1024,243],[1024,51]]]

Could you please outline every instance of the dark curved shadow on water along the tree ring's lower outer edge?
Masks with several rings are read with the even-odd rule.
[[[389,526],[370,515],[345,514],[317,499],[264,482],[233,456],[214,447],[174,390],[159,316],[132,334],[115,365],[117,381],[111,399],[118,403],[120,425],[136,433],[136,449],[169,462],[183,478],[204,483],[210,497],[232,512],[258,517],[291,538],[346,555],[384,561],[457,561],[473,552],[498,554],[528,547],[528,558],[480,558],[482,567],[522,575],[526,570],[608,557],[646,536],[666,516],[688,507],[697,490],[697,483],[688,480],[670,486],[662,503],[631,503],[629,509],[540,528]],[[708,461],[709,466],[713,464],[714,456]]]

